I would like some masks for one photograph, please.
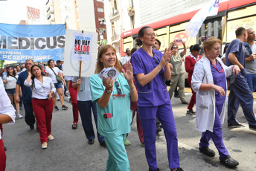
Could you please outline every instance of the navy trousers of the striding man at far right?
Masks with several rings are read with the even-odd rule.
[[[228,95],[228,126],[236,122],[237,110],[241,105],[243,114],[249,123],[249,126],[256,126],[255,114],[253,113],[253,96],[243,73],[237,74],[234,83],[230,84],[230,93]]]

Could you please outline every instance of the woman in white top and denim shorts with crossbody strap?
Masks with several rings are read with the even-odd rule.
[[[68,109],[68,107],[64,105],[63,86],[61,85],[62,83],[58,83],[57,81],[57,75],[58,75],[63,80],[63,84],[65,86],[65,80],[63,78],[63,75],[61,74],[60,69],[58,67],[55,67],[55,63],[53,59],[48,60],[48,66],[49,67],[46,68],[46,71],[45,71],[45,77],[51,78],[55,88],[57,89],[57,93],[60,96],[60,103],[62,106],[61,109],[66,110]],[[53,100],[54,100],[54,110],[58,111],[59,108],[57,106],[56,94],[54,94]]]

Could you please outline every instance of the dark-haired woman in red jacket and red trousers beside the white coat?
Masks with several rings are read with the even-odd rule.
[[[193,74],[193,68],[196,65],[196,62],[199,61],[199,59],[201,59],[200,51],[201,51],[201,47],[199,46],[199,44],[196,45],[191,45],[191,54],[188,55],[188,57],[186,57],[185,59],[185,70],[186,72],[188,72],[188,85],[191,87],[191,78],[192,78],[192,74]],[[187,114],[196,114],[196,112],[193,111],[193,106],[196,103],[196,93],[192,90],[192,96],[191,96],[191,101],[188,104],[188,111]]]

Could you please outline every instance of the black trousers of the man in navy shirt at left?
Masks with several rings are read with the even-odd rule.
[[[35,116],[33,115],[33,108],[32,108],[32,100],[23,100],[23,105],[25,109],[25,122],[28,126],[33,126],[35,124]]]

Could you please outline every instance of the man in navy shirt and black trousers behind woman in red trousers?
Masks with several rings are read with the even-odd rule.
[[[31,72],[31,67],[33,65],[32,59],[27,59],[25,62],[26,71],[23,71],[19,74],[18,80],[16,82],[15,90],[15,100],[19,103],[19,90],[22,88],[22,100],[25,108],[25,122],[30,126],[31,129],[34,129],[34,123],[36,122],[35,116],[33,115],[32,108],[32,91],[30,87],[24,85],[25,80],[28,78],[28,73]]]

